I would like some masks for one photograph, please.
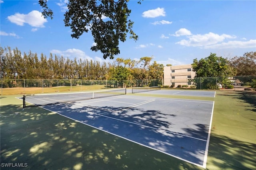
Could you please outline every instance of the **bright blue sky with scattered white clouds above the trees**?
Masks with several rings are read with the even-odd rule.
[[[210,53],[231,58],[256,51],[256,1],[130,0],[130,20],[138,41],[127,38],[115,57],[138,60],[153,56],[159,64],[191,64]],[[0,45],[23,53],[70,59],[104,60],[90,31],[72,39],[64,26],[66,0],[49,0],[54,18],[44,19],[37,0],[0,0]],[[128,35],[129,36],[129,35]]]

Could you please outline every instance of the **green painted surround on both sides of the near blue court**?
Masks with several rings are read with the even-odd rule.
[[[203,169],[40,107],[22,110],[15,96],[0,97],[1,170],[8,169],[2,163],[31,170]],[[215,101],[206,169],[256,169],[255,92],[223,90],[202,100]]]

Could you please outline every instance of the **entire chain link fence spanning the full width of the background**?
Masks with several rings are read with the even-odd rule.
[[[166,83],[165,83],[166,82]],[[148,80],[77,80],[77,79],[1,79],[1,95],[10,94],[38,94],[48,92],[75,92],[84,90],[100,90],[106,88],[131,88],[146,86],[162,86],[162,88],[177,88],[183,86],[170,86],[170,82],[179,82],[175,79],[148,79]],[[233,77],[198,77],[186,80],[189,88],[200,90],[256,88],[256,76]],[[187,88],[188,86],[186,86]]]

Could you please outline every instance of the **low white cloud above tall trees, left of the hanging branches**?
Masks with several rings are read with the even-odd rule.
[[[63,57],[68,57],[70,59],[88,59],[91,60],[92,58],[89,57],[88,55],[86,55],[84,53],[84,51],[80,50],[80,49],[67,49],[66,51],[60,51],[60,50],[56,50],[53,49],[50,51],[50,53],[56,54],[56,55],[60,55]]]

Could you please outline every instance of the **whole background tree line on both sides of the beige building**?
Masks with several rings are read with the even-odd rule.
[[[88,59],[69,59],[43,53],[21,53],[16,47],[0,47],[1,79],[82,79],[82,80],[146,80],[162,79],[164,65],[152,62],[153,57],[140,60],[117,58],[112,63]],[[167,64],[171,66],[171,64]],[[215,53],[192,63],[196,77],[256,76],[256,52],[246,52],[231,59]]]

